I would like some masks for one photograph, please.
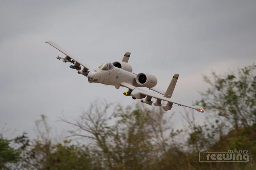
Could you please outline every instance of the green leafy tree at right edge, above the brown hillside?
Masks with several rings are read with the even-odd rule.
[[[229,122],[239,131],[239,127],[248,128],[256,123],[256,65],[238,70],[238,74],[229,73],[218,76],[212,72],[214,81],[204,76],[210,85],[201,92],[202,100],[197,101],[209,113],[217,115],[218,121]]]

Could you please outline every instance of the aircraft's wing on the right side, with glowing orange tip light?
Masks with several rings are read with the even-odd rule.
[[[197,108],[197,107],[193,107],[193,106],[187,106],[187,105],[184,105],[184,104],[181,104],[181,103],[177,103],[177,102],[174,102],[174,101],[172,101],[172,100],[170,100],[169,98],[167,98],[167,97],[163,97],[163,96],[160,96],[160,95],[158,95],[158,94],[154,94],[154,93],[151,93],[151,92],[147,92],[147,91],[145,91],[145,90],[142,90],[142,89],[140,89],[140,88],[138,88],[138,87],[135,87],[135,86],[133,86],[133,85],[131,85],[131,84],[129,84],[129,83],[125,83],[125,82],[123,82],[123,83],[121,83],[121,85],[122,86],[124,86],[124,87],[126,87],[126,88],[128,88],[128,89],[131,89],[131,90],[135,90],[135,93],[140,93],[140,94],[142,94],[142,95],[146,95],[146,96],[149,96],[149,97],[153,97],[153,98],[156,98],[156,99],[158,99],[158,100],[164,100],[164,101],[167,101],[168,102],[168,104],[170,104],[170,105],[166,105],[166,106],[170,106],[170,109],[172,108],[172,104],[174,103],[174,104],[177,104],[177,105],[180,105],[180,106],[184,106],[184,107],[189,107],[189,108],[192,108],[192,109],[195,109],[196,111],[198,111],[198,112],[202,112],[202,113],[204,113],[204,110],[203,109],[200,109],[200,108]],[[132,94],[132,93],[131,93]],[[169,107],[168,107],[169,108]],[[170,109],[167,109],[167,110],[170,110]]]

